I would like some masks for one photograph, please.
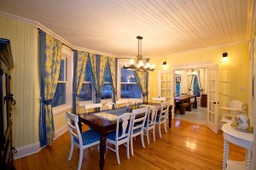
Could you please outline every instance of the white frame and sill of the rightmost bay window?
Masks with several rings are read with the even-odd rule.
[[[120,99],[134,99],[134,98],[121,98],[121,84],[137,84],[137,82],[121,82],[121,68],[123,65],[129,64],[129,59],[118,59],[118,72],[117,72],[117,100]],[[137,101],[143,100],[143,94]]]

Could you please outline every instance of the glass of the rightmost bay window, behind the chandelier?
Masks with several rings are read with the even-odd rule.
[[[125,99],[141,99],[142,92],[137,85],[134,71],[120,68],[120,98]]]

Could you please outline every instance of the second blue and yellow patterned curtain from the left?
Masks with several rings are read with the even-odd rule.
[[[74,52],[74,74],[73,74],[73,113],[79,114],[79,94],[84,82],[88,53],[84,51]]]

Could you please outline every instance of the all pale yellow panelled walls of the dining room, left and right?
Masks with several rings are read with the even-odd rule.
[[[38,29],[20,21],[0,17],[0,37],[11,42],[15,68],[11,71],[11,91],[15,94],[17,104],[12,111],[14,146],[21,147],[38,142],[39,120],[39,58]],[[222,54],[229,53],[229,63],[222,62]],[[219,101],[226,104],[230,99],[240,99],[247,104],[249,57],[247,43],[225,48],[207,48],[182,54],[154,58],[150,62],[156,70],[149,73],[149,99],[158,96],[158,71],[161,64],[167,61],[169,69],[172,65],[212,62],[219,65]],[[243,86],[244,91],[240,88]],[[82,107],[81,110],[84,108]],[[66,124],[65,112],[54,116],[55,131]]]

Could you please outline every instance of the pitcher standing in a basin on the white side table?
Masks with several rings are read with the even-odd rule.
[[[231,127],[244,132],[253,132],[253,127],[250,127],[250,120],[245,111],[239,111],[235,122],[231,123]]]

